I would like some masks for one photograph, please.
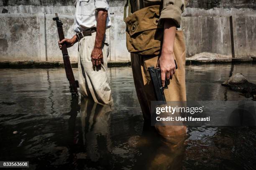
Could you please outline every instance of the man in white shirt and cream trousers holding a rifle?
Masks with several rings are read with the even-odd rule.
[[[71,39],[59,42],[71,47],[78,44],[79,88],[83,97],[92,97],[95,102],[112,104],[110,80],[107,74],[109,35],[106,29],[111,22],[108,17],[109,0],[77,0],[74,31]],[[97,28],[97,29],[96,29]]]

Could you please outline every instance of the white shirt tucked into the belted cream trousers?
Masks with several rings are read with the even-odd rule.
[[[97,27],[97,9],[109,8],[109,0],[76,0],[75,2],[74,31],[81,32]],[[108,15],[106,28],[110,28],[111,21]]]

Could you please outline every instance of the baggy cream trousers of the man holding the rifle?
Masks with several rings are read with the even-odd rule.
[[[78,44],[78,74],[79,88],[81,95],[93,98],[95,102],[102,104],[112,103],[110,80],[108,77],[108,55],[109,55],[109,35],[105,35],[102,43],[102,53],[104,64],[101,69],[93,68],[91,53],[95,44],[96,32],[91,36],[85,36],[79,40]]]

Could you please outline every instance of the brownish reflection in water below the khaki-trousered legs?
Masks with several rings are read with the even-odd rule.
[[[181,170],[184,157],[184,140],[178,144],[159,140],[154,127],[144,125],[140,137],[132,138],[129,144],[138,149],[133,169]]]

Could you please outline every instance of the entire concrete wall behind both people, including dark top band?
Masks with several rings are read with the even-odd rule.
[[[229,16],[233,15],[236,57],[256,56],[256,0],[189,0],[183,13],[187,57],[200,52],[231,55]],[[130,60],[126,49],[123,6],[125,0],[111,0],[109,60]],[[245,8],[241,8],[245,7]],[[72,0],[0,0],[0,61],[61,61],[57,31],[52,21],[59,13],[66,37],[72,37],[74,6]],[[6,14],[5,14],[6,13]],[[8,14],[10,13],[10,14]],[[69,49],[77,61],[77,45]]]

